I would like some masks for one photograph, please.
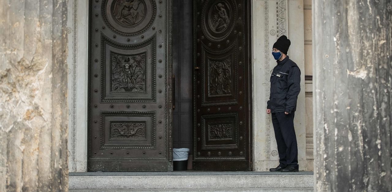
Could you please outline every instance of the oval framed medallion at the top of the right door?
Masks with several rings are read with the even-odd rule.
[[[201,25],[208,39],[219,42],[232,32],[237,16],[236,2],[233,0],[207,0],[201,14]]]

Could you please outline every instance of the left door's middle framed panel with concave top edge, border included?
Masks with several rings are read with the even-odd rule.
[[[156,35],[130,45],[101,36],[101,102],[156,102]]]

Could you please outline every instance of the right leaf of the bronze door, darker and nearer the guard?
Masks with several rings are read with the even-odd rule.
[[[247,0],[194,0],[194,170],[250,170]]]

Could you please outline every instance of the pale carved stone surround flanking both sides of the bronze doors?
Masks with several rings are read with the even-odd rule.
[[[281,35],[291,40],[290,59],[301,69],[301,93],[294,120],[300,170],[306,170],[305,59],[303,0],[250,0],[252,9],[252,117],[254,171],[278,164],[278,152],[270,116],[265,113],[269,99],[270,70],[276,65],[270,50]],[[88,1],[68,1],[68,106],[69,172],[87,171],[87,63]],[[291,19],[288,19],[291,18]],[[262,82],[262,83],[260,83]]]

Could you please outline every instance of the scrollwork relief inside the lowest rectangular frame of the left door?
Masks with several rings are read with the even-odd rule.
[[[146,122],[110,122],[110,138],[145,138]]]

